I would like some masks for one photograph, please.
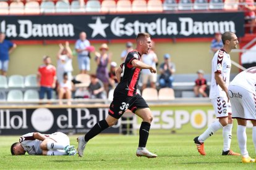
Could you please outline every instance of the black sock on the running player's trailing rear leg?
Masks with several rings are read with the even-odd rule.
[[[100,134],[100,132],[104,131],[108,127],[108,123],[105,119],[99,121],[92,127],[92,129],[90,129],[90,131],[88,131],[87,134],[85,134],[85,142],[88,142],[90,139]]]

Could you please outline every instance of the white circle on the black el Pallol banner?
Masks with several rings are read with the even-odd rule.
[[[31,116],[32,126],[39,132],[46,132],[53,126],[53,113],[48,108],[38,108]]]

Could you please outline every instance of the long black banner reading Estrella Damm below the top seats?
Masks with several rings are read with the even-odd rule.
[[[217,31],[244,36],[244,13],[33,15],[0,16],[0,31],[10,39],[135,38],[148,32],[153,38],[204,38]]]

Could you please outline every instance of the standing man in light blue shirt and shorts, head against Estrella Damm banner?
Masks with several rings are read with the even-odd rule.
[[[78,64],[80,73],[86,74],[87,71],[90,71],[90,42],[86,39],[87,34],[81,32],[79,39],[75,42],[75,51],[78,53]]]

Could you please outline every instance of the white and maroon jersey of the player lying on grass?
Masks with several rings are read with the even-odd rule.
[[[41,140],[35,139],[33,137],[33,132],[25,134],[20,137],[20,144],[24,148],[25,152],[28,153],[28,155],[42,155],[43,152],[40,148]],[[45,135],[49,136],[49,135]]]

